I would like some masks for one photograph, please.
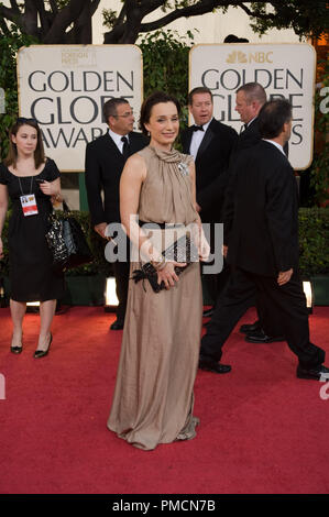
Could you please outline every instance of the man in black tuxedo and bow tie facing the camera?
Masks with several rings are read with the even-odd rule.
[[[210,249],[213,253],[213,223],[222,220],[227,169],[238,134],[232,128],[213,118],[212,92],[209,88],[194,88],[188,96],[188,107],[195,124],[182,134],[183,152],[191,154],[195,158],[197,209],[202,222],[212,223]],[[226,279],[226,267],[220,275],[204,275],[212,299],[217,299]]]

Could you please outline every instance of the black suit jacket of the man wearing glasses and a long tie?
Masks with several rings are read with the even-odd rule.
[[[128,136],[129,155],[149,144],[142,133],[131,132]],[[119,184],[124,162],[109,132],[87,144],[85,182],[92,226],[100,222],[120,222]]]

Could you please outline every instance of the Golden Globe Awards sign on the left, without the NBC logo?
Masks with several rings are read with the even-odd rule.
[[[142,102],[142,54],[135,45],[32,45],[18,54],[20,114],[35,118],[46,155],[61,170],[85,169],[86,144],[107,131],[103,103]]]

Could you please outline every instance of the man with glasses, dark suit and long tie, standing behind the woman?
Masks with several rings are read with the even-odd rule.
[[[108,100],[103,106],[103,117],[109,125],[106,134],[86,148],[86,189],[91,223],[103,239],[109,223],[120,222],[119,184],[127,158],[147,145],[141,133],[133,132],[134,117],[129,102],[123,98]],[[103,190],[103,199],[101,191]],[[114,262],[119,306],[112,330],[121,330],[124,323],[129,260]]]

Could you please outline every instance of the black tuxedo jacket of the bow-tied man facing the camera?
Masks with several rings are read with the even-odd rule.
[[[190,154],[193,128],[182,133],[183,152]],[[238,134],[229,125],[212,119],[196,156],[196,194],[204,222],[220,222],[227,170]]]

